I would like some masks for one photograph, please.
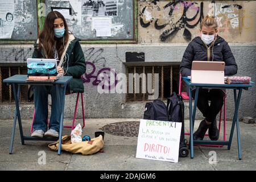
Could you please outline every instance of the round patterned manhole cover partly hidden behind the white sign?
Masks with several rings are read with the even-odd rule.
[[[122,137],[138,137],[139,122],[118,122],[102,127],[102,130],[111,135]]]

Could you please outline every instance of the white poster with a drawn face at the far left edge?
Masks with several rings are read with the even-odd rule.
[[[14,0],[0,0],[0,39],[10,39],[14,29]]]

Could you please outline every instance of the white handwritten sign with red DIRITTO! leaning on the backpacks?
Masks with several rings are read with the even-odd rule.
[[[181,123],[141,119],[136,158],[178,162]]]

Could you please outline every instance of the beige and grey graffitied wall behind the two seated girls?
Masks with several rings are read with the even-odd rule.
[[[156,1],[154,1],[156,2]],[[98,82],[96,81],[97,75],[105,70],[109,73],[109,69],[115,69],[117,73],[125,73],[126,65],[126,52],[144,52],[145,63],[180,63],[183,56],[183,52],[188,44],[189,35],[186,31],[186,36],[184,39],[183,32],[184,28],[180,28],[175,36],[169,36],[164,41],[160,40],[160,35],[164,30],[170,29],[170,24],[166,27],[156,30],[155,18],[148,27],[142,27],[140,22],[141,18],[144,23],[147,23],[150,17],[156,16],[164,23],[168,18],[170,23],[175,22],[179,17],[168,16],[169,9],[164,9],[163,7],[167,5],[170,1],[160,1],[156,2],[144,2],[138,1],[138,44],[84,44],[82,49],[86,57],[86,76],[84,75],[84,101],[85,101],[85,116],[86,118],[141,118],[143,115],[144,104],[146,102],[126,102],[125,94],[109,93],[100,94],[97,92]],[[192,3],[193,8],[192,8]],[[196,15],[194,10],[199,13],[201,1],[193,1],[187,5],[185,3],[179,3],[174,7],[174,15],[178,16],[179,12],[184,13],[184,7],[189,15],[188,18],[192,18]],[[196,4],[196,3],[197,4]],[[225,12],[218,14],[220,23],[219,34],[224,37],[230,45],[234,57],[236,58],[238,64],[238,74],[250,76],[253,81],[256,80],[256,38],[255,38],[255,1],[228,1],[228,2],[215,2],[202,1],[204,15],[208,11],[212,10],[214,7],[214,12],[218,12],[218,9],[222,10],[225,7]],[[195,6],[196,5],[196,6]],[[238,6],[240,5],[240,6]],[[142,15],[142,10],[144,7],[148,8],[147,20],[146,16]],[[190,7],[191,6],[191,7]],[[200,8],[198,9],[197,6]],[[237,8],[238,7],[238,8]],[[147,9],[147,8],[146,8]],[[157,10],[157,11],[156,11]],[[163,13],[163,15],[159,15]],[[175,13],[176,12],[176,13]],[[189,14],[190,13],[190,14]],[[194,13],[194,14],[193,14]],[[144,11],[145,14],[145,11]],[[234,14],[234,15],[228,15]],[[221,18],[222,17],[222,18]],[[231,20],[233,18],[236,20]],[[159,20],[159,21],[160,21]],[[197,21],[194,20],[193,24]],[[252,22],[253,21],[253,22]],[[233,22],[233,23],[232,23]],[[235,23],[236,22],[236,23]],[[161,24],[162,24],[161,23]],[[160,23],[159,23],[160,24]],[[144,26],[144,25],[143,25]],[[173,25],[175,26],[175,24]],[[193,39],[199,32],[199,25],[195,28],[187,28],[191,32],[191,39]],[[32,45],[0,45],[0,64],[1,63],[25,63],[28,57],[31,57],[33,51]],[[250,88],[248,91],[243,91],[242,100],[240,104],[239,116],[251,116],[256,117],[256,87]],[[73,117],[73,109],[75,107],[76,94],[71,96],[66,96],[65,104],[65,117]],[[233,92],[228,90],[227,98],[227,117],[232,118],[234,111],[233,103]],[[186,118],[188,118],[188,104],[186,103]],[[33,106],[32,105],[22,105],[22,117],[29,118],[32,117]],[[0,105],[0,118],[11,118],[13,117],[14,105]],[[81,109],[78,110],[78,117],[81,117]],[[200,118],[201,114],[197,114],[197,118]]]

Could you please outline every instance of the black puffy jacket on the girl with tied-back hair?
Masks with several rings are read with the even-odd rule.
[[[180,64],[181,76],[191,76],[192,61],[224,61],[225,76],[236,75],[237,64],[228,43],[217,36],[216,41],[207,49],[200,36],[194,38],[185,49]]]

